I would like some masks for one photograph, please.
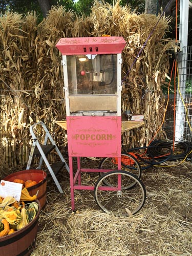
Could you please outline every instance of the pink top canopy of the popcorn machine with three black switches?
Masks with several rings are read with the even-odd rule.
[[[61,38],[57,49],[62,55],[77,54],[117,54],[121,53],[126,42],[123,37],[80,37]]]

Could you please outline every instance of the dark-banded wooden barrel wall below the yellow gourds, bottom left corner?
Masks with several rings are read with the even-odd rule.
[[[0,238],[1,256],[28,256],[32,253],[37,237],[37,224],[40,213],[40,202],[35,218],[25,227]]]

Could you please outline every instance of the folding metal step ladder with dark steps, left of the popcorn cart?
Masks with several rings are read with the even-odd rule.
[[[46,135],[45,135],[45,140],[44,140],[44,144],[40,144],[38,139],[36,138],[36,135],[34,133],[34,127],[36,125],[41,125],[42,126],[42,129],[45,130],[46,132]],[[56,175],[57,173],[59,172],[59,170],[62,169],[62,167],[66,167],[68,173],[69,173],[69,166],[68,164],[66,163],[66,160],[63,158],[63,156],[61,155],[55,141],[53,140],[53,138],[51,137],[46,125],[40,121],[40,122],[37,122],[33,125],[30,126],[30,133],[31,133],[31,136],[33,138],[33,144],[32,144],[32,147],[31,147],[31,152],[30,152],[30,155],[29,155],[29,160],[28,160],[28,163],[27,163],[27,169],[30,169],[30,166],[31,166],[31,161],[32,161],[32,158],[33,156],[37,156],[37,157],[40,157],[40,161],[39,161],[39,165],[37,167],[37,169],[41,169],[41,165],[42,165],[42,162],[44,161],[48,170],[49,170],[49,173],[50,175],[52,176],[58,190],[60,193],[63,193],[62,191],[62,188],[56,178]],[[50,144],[48,144],[48,142]],[[55,150],[60,158],[60,161],[59,162],[55,162],[55,163],[52,163],[50,164],[48,159],[47,159],[47,156],[49,153],[51,153],[53,150]]]

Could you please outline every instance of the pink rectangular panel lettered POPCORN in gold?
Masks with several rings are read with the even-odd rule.
[[[121,156],[121,117],[68,116],[66,118],[69,156]]]

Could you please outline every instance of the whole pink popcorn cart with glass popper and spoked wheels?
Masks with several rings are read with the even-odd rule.
[[[115,215],[135,214],[145,201],[143,183],[122,170],[121,163],[121,52],[125,45],[116,36],[61,38],[56,44],[62,54],[66,100],[66,120],[57,124],[68,134],[72,210],[76,189],[94,190],[98,206]],[[130,129],[129,121],[127,125]],[[82,157],[116,159],[117,169],[82,168]],[[73,158],[77,158],[76,170]],[[83,172],[101,175],[94,186],[83,185]]]

